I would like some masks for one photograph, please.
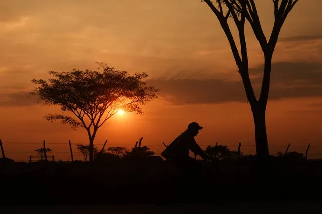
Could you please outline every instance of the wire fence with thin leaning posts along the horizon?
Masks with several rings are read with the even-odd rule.
[[[29,156],[33,156],[37,154],[35,151],[36,149],[42,148],[43,147],[43,142],[17,142],[17,141],[2,141],[3,147],[5,148],[5,154],[6,157],[14,159],[16,161],[28,161]],[[77,143],[71,143],[72,146],[72,151],[73,151],[73,156],[74,160],[82,160],[82,155],[81,153],[77,150],[76,145],[77,144],[83,144],[83,145],[88,145],[88,143],[84,142],[77,142]],[[224,144],[224,143],[218,143],[218,145],[224,145],[227,146],[228,149],[237,151],[238,149],[238,144]],[[28,148],[22,149],[21,146],[27,146]],[[62,145],[66,145],[66,147],[62,148]],[[98,150],[100,150],[104,143],[95,143],[95,146],[98,147]],[[116,146],[121,146],[121,147],[126,147],[127,149],[133,148],[135,143],[129,144],[129,143],[124,143],[124,144],[112,144],[112,143],[107,143],[105,149],[108,147],[116,147]],[[162,142],[158,143],[150,143],[150,144],[142,144],[142,146],[147,146],[150,148],[151,151],[155,152],[155,155],[160,156],[161,152],[165,149],[165,146],[162,144]],[[199,144],[199,146],[202,149],[206,149],[207,146],[215,146],[214,144]],[[287,149],[288,144],[270,144],[270,153],[272,155],[277,154],[278,152],[284,153]],[[70,148],[69,148],[69,142],[46,142],[46,148],[51,148],[52,151],[48,152],[48,156],[55,156],[56,160],[70,160]],[[63,149],[63,150],[62,150]],[[288,152],[296,151],[298,153],[303,153],[305,155],[307,150],[307,145],[290,145]],[[241,152],[243,155],[254,155],[255,154],[255,145],[254,144],[241,144]],[[192,153],[191,153],[192,154]],[[314,158],[314,159],[319,159],[322,158],[322,145],[321,144],[312,144],[310,145],[310,151],[309,151],[309,157]],[[2,156],[1,151],[0,151],[0,156]]]

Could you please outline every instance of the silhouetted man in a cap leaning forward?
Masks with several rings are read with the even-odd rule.
[[[174,161],[176,163],[189,163],[195,161],[189,156],[189,150],[196,155],[201,156],[203,159],[209,159],[204,151],[195,141],[195,136],[199,133],[203,127],[198,123],[192,122],[189,124],[188,129],[179,135],[162,153],[161,155]]]

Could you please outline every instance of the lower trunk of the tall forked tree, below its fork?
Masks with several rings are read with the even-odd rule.
[[[260,161],[267,160],[270,155],[266,134],[265,107],[258,105],[252,108],[255,123],[256,154]]]

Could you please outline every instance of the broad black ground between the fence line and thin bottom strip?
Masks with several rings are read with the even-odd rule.
[[[73,205],[74,208],[66,208],[80,210],[64,213],[86,213],[87,208],[98,209],[87,213],[107,210],[134,213],[141,208],[145,210],[141,213],[210,213],[207,212],[210,210],[234,213],[240,209],[245,209],[241,213],[253,213],[247,209],[281,211],[289,208],[293,212],[318,209],[319,203],[312,201],[322,201],[322,163],[319,161],[278,160],[265,166],[247,161],[217,165],[201,162],[200,166],[199,171],[182,174],[165,161],[0,164],[0,205],[28,205],[28,209],[21,208],[25,211],[32,209],[30,205]],[[205,212],[198,211],[199,207]],[[0,207],[0,213],[10,209],[12,207]],[[46,213],[65,210],[42,209],[47,209]]]

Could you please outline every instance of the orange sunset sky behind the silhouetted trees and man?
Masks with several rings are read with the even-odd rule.
[[[256,4],[269,37],[273,3]],[[266,115],[271,154],[288,143],[290,151],[305,153],[311,143],[310,157],[322,157],[321,8],[321,0],[299,0],[282,28]],[[249,26],[246,34],[255,86],[263,55]],[[147,72],[149,84],[161,89],[143,115],[109,120],[95,140],[99,148],[105,140],[131,147],[143,136],[158,154],[162,142],[196,121],[204,126],[196,137],[203,148],[217,141],[237,149],[242,142],[242,152],[255,151],[252,114],[228,41],[200,0],[3,0],[0,49],[0,139],[9,158],[27,160],[46,140],[56,159],[67,160],[69,139],[88,143],[85,130],[46,121],[59,108],[37,104],[28,92],[30,80],[49,78],[49,70],[96,69],[96,61]]]

